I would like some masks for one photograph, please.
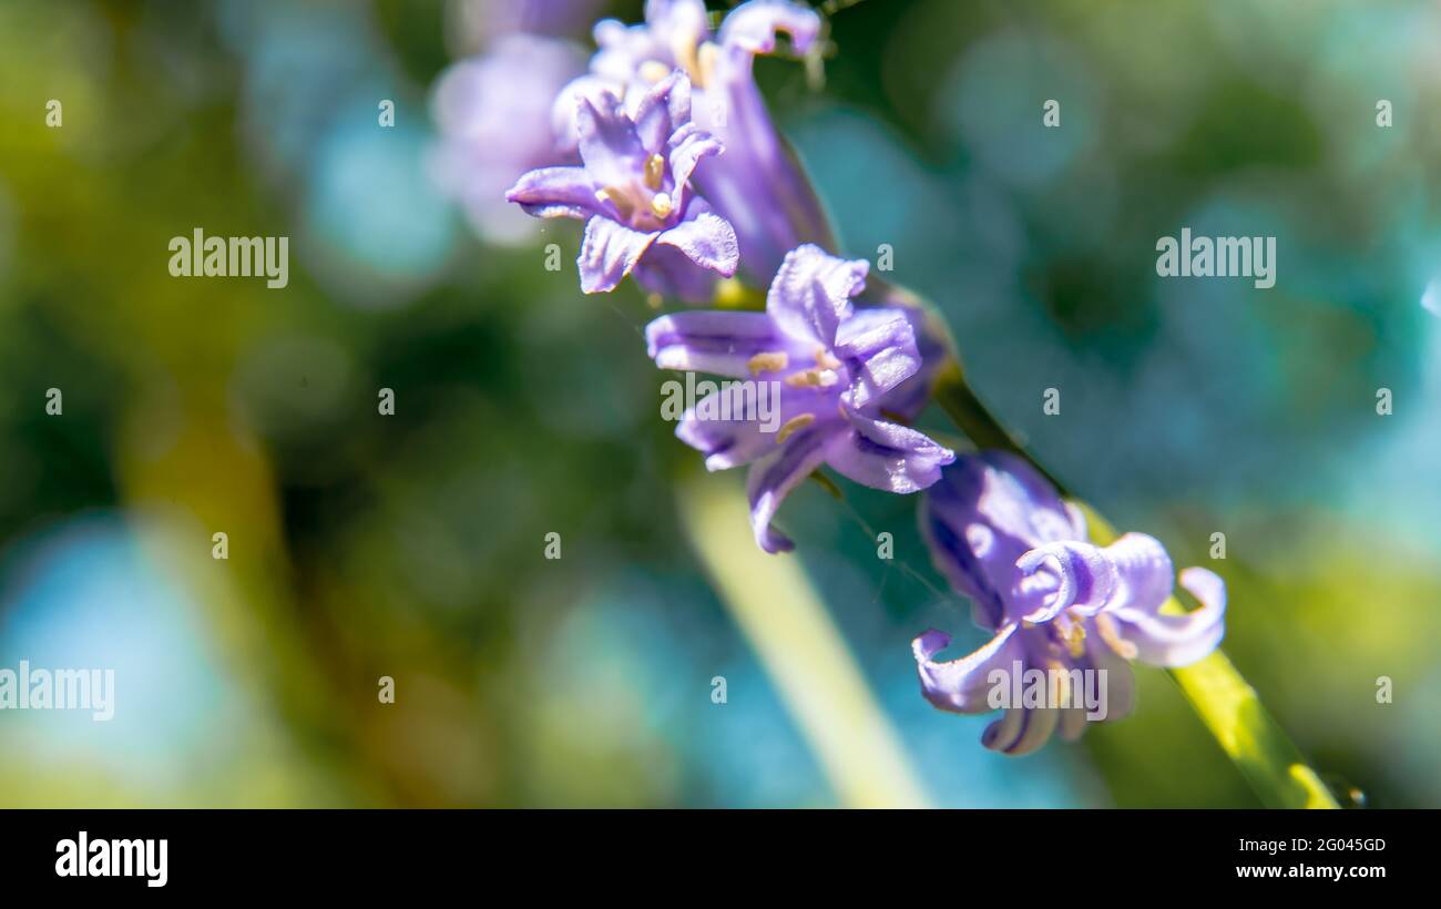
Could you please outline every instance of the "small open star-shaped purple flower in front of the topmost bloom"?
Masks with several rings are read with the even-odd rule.
[[[703,300],[713,275],[735,274],[735,230],[690,187],[720,143],[690,122],[690,81],[673,73],[634,114],[601,94],[576,99],[579,167],[542,167],[506,199],[537,218],[585,220],[581,290],[605,292],[633,274],[650,291]]]

